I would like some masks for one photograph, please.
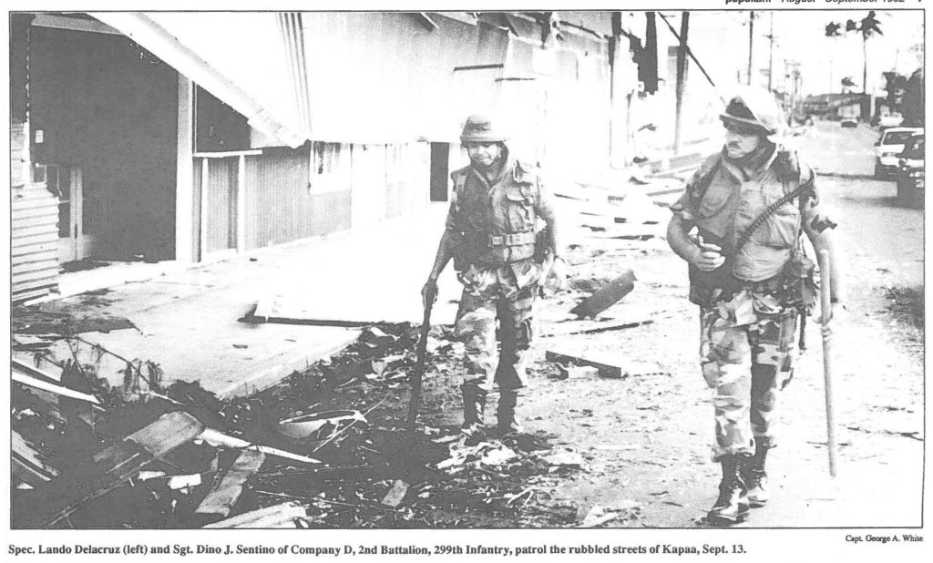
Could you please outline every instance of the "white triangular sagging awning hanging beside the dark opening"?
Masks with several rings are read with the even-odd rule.
[[[230,105],[267,137],[293,148],[308,140],[276,13],[89,14]]]

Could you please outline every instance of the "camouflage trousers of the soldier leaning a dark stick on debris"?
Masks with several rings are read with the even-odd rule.
[[[470,268],[460,276],[464,293],[455,334],[465,344],[466,382],[486,391],[493,383],[501,390],[525,386],[538,286],[534,276],[523,278],[520,287],[510,266]],[[498,354],[497,341],[501,342]]]

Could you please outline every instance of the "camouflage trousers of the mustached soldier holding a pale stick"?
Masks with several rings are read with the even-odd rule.
[[[703,378],[713,391],[713,460],[776,446],[777,401],[793,377],[797,309],[743,290],[701,309]]]

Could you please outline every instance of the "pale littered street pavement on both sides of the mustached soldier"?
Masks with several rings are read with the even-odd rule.
[[[829,476],[823,347],[812,318],[808,350],[781,398],[780,446],[769,458],[773,500],[755,509],[745,528],[921,523],[923,213],[896,207],[893,184],[870,178],[876,135],[828,122],[793,140],[821,172],[820,193],[840,223],[834,237],[850,286],[832,338],[838,475]],[[709,462],[712,405],[696,357],[697,313],[686,300],[686,268],[663,242],[632,249],[575,242],[579,248],[570,259],[577,277],[611,278],[624,267],[638,278],[634,292],[606,315],[616,322],[653,321],[621,333],[577,336],[577,350],[653,362],[658,373],[623,380],[536,378],[521,414],[529,428],[555,433],[557,445],[588,460],[588,472],[558,487],[580,503],[581,514],[596,504],[635,507],[637,518],[615,525],[694,526],[716,498],[719,471]],[[910,289],[921,295],[919,309],[896,314],[892,292]],[[543,316],[559,318],[553,309],[572,305],[570,297],[571,303],[544,304]],[[565,344],[546,337],[538,347]]]

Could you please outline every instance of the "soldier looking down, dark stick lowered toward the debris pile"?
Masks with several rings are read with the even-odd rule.
[[[450,212],[422,294],[437,294],[440,273],[453,258],[464,284],[455,328],[466,344],[463,428],[476,439],[483,434],[483,409],[494,383],[498,431],[521,431],[515,406],[525,386],[532,306],[545,282],[544,263],[559,285],[565,267],[551,197],[536,169],[509,154],[506,136],[488,117],[469,117],[460,140],[470,165],[451,174]],[[539,218],[547,229],[539,229]]]

